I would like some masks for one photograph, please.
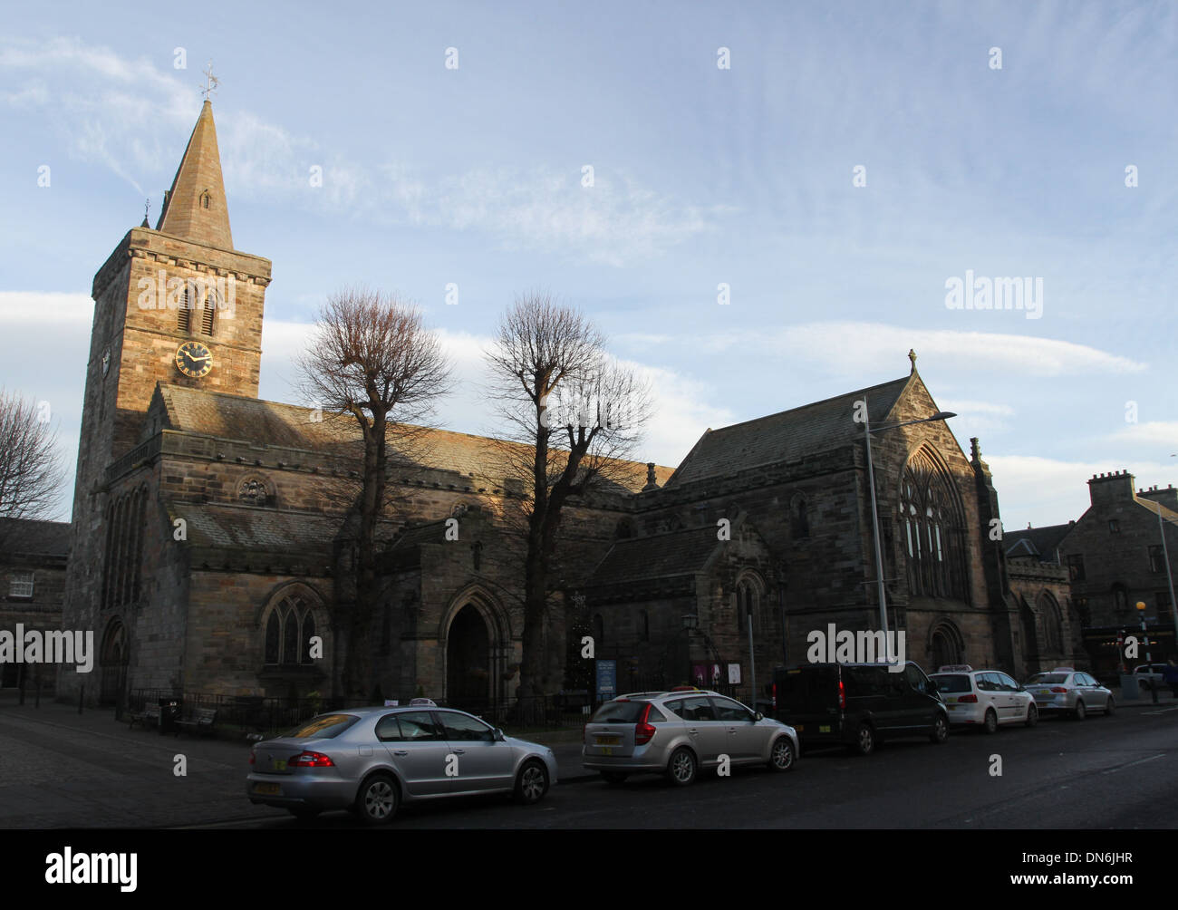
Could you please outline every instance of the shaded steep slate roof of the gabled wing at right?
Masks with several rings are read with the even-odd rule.
[[[912,375],[719,430],[709,429],[683,459],[668,486],[801,459],[862,438],[863,428],[852,420],[854,402],[866,395],[868,418],[881,423],[911,378]]]

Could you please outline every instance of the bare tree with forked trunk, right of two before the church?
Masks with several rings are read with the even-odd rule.
[[[521,695],[549,688],[543,651],[561,513],[595,489],[633,482],[626,461],[649,417],[650,394],[605,352],[577,310],[547,294],[518,297],[499,321],[488,361],[505,431],[503,474],[523,481],[523,662]]]

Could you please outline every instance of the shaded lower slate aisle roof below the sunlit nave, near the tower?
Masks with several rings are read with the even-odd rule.
[[[192,547],[267,553],[325,553],[340,519],[225,503],[170,502],[168,515],[184,519]]]

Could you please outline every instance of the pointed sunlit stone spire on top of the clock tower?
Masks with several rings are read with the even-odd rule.
[[[164,196],[157,231],[207,246],[233,249],[220,173],[213,106],[205,99],[172,189]]]

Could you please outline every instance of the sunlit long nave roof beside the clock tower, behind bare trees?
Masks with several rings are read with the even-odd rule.
[[[168,429],[173,430],[240,440],[256,446],[283,446],[311,451],[338,450],[342,443],[358,437],[349,422],[331,418],[312,421],[312,409],[296,404],[183,385],[161,384],[159,393]],[[485,436],[438,429],[426,429],[413,435],[412,453],[403,453],[410,461],[425,462],[423,467],[458,472],[466,476],[498,476],[494,473],[494,466],[502,460],[501,442]],[[641,490],[647,482],[647,466],[636,461],[622,464],[627,470],[621,489],[630,493]],[[656,466],[655,477],[662,484],[673,472],[674,468]]]

